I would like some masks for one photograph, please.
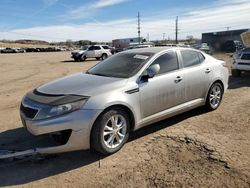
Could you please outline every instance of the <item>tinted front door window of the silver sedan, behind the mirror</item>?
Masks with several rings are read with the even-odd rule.
[[[158,57],[154,64],[160,65],[160,72],[158,74],[164,74],[179,69],[178,60],[175,52],[168,52]]]

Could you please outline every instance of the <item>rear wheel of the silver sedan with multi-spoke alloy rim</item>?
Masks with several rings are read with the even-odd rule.
[[[209,111],[216,110],[222,101],[223,86],[219,82],[215,82],[209,89],[206,99],[206,109]]]

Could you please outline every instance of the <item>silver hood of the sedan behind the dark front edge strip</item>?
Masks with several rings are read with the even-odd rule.
[[[49,95],[93,96],[124,86],[127,79],[77,73],[38,87],[40,93]]]

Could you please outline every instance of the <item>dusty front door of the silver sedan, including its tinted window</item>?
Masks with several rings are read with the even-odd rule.
[[[182,103],[183,82],[176,52],[170,51],[159,56],[153,64],[160,65],[160,72],[139,84],[142,118]]]

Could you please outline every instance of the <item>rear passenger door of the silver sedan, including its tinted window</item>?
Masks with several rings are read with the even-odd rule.
[[[205,56],[195,50],[181,50],[184,75],[184,102],[206,97],[211,83],[212,68]]]

